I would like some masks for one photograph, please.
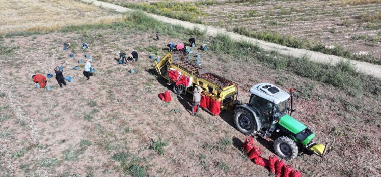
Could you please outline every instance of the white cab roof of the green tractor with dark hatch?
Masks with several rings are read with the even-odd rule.
[[[250,88],[250,92],[275,104],[290,97],[290,94],[270,83],[258,83]]]

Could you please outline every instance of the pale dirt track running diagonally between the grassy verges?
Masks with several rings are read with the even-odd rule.
[[[88,2],[88,3],[92,2],[94,5],[101,6],[104,8],[115,9],[118,12],[127,12],[127,11],[131,10],[128,8],[124,8],[124,7],[115,5],[115,4],[96,1],[96,0],[82,0],[82,1]],[[337,62],[339,62],[341,60],[349,61],[351,64],[356,66],[357,71],[368,74],[368,75],[373,75],[374,77],[377,77],[377,78],[381,78],[381,66],[380,65],[374,65],[374,64],[370,64],[368,62],[359,62],[359,61],[354,61],[354,60],[347,60],[343,57],[334,56],[334,55],[327,55],[327,54],[309,51],[309,50],[305,50],[305,49],[290,48],[290,47],[286,47],[286,46],[282,46],[282,45],[278,45],[278,44],[274,44],[274,43],[270,43],[270,42],[266,42],[266,41],[257,40],[257,39],[250,38],[247,36],[239,35],[239,34],[236,34],[233,32],[228,32],[225,29],[215,28],[215,27],[206,26],[206,25],[202,25],[202,24],[190,23],[190,22],[186,22],[186,21],[181,21],[181,20],[172,19],[172,18],[154,15],[154,14],[149,14],[149,13],[147,13],[147,14],[149,16],[151,16],[151,17],[153,17],[159,21],[165,22],[165,23],[180,25],[180,26],[183,26],[183,27],[189,28],[189,29],[192,29],[194,27],[198,27],[201,30],[206,30],[206,34],[210,35],[210,36],[216,36],[217,34],[221,34],[221,33],[228,34],[234,40],[248,41],[248,42],[251,42],[253,44],[257,44],[259,47],[263,48],[264,50],[278,51],[281,54],[291,55],[294,57],[302,57],[302,56],[307,55],[307,56],[309,56],[310,60],[315,61],[315,62],[319,62],[319,63],[336,64]]]

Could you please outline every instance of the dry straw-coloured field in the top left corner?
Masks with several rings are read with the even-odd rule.
[[[0,34],[17,31],[57,30],[65,25],[121,21],[121,14],[73,1],[0,0]]]

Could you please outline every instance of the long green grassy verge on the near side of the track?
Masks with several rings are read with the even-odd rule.
[[[308,60],[307,57],[294,58],[280,55],[277,52],[263,51],[256,45],[248,42],[233,41],[228,35],[220,34],[216,37],[205,37],[204,32],[195,28],[187,30],[181,26],[167,24],[148,17],[141,11],[134,11],[125,14],[125,22],[97,25],[68,26],[59,30],[60,32],[83,32],[96,29],[125,29],[131,28],[138,31],[156,31],[162,35],[171,36],[181,40],[187,40],[189,36],[194,36],[197,40],[211,43],[210,50],[216,54],[225,54],[230,58],[240,58],[240,60],[256,60],[262,65],[281,70],[293,72],[296,75],[318,80],[322,83],[330,84],[341,88],[351,96],[361,96],[363,94],[381,95],[381,80],[356,72],[355,68],[346,62],[337,65],[320,64]]]

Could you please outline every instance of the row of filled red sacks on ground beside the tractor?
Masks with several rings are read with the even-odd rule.
[[[243,149],[248,152],[248,158],[254,159],[254,163],[263,167],[270,168],[272,174],[277,173],[277,177],[301,177],[301,172],[294,170],[291,165],[285,164],[283,159],[277,158],[276,155],[270,155],[268,159],[262,158],[261,147],[254,145],[254,139],[250,135],[245,139]]]

